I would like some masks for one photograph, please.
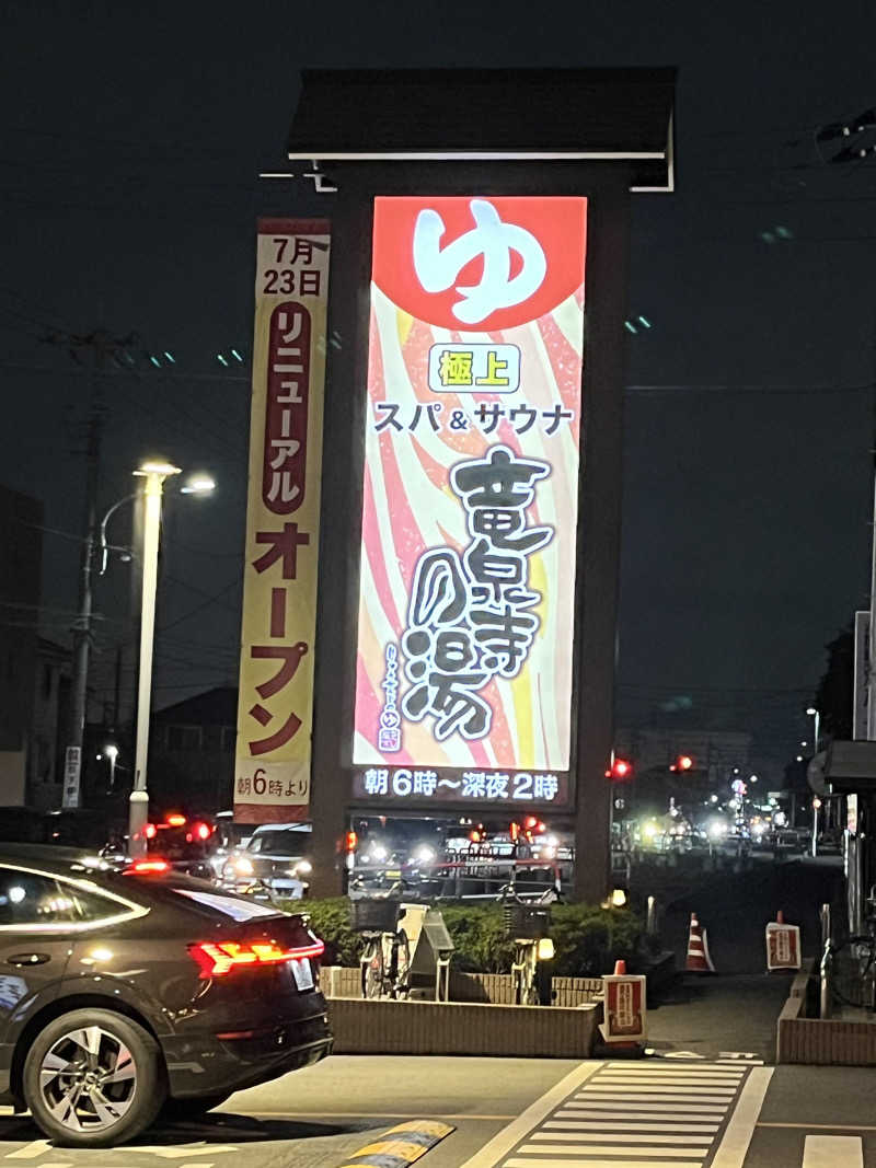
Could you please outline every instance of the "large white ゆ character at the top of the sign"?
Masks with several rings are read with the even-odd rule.
[[[426,292],[446,292],[472,259],[484,256],[480,284],[457,287],[463,297],[453,315],[464,325],[479,325],[498,308],[510,308],[541,287],[548,271],[542,245],[526,228],[503,223],[486,199],[468,204],[475,225],[442,248],[444,220],[431,208],[422,210],[413,228],[413,270]],[[512,252],[522,267],[512,277]]]

